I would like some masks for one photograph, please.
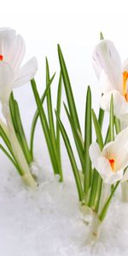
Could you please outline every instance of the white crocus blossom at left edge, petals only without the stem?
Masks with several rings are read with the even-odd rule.
[[[23,67],[20,67],[25,55],[25,43],[15,30],[0,29],[0,98],[9,99],[13,88],[26,84],[32,79],[38,69],[37,60],[32,57]]]

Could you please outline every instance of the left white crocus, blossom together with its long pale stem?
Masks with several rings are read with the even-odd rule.
[[[20,143],[15,135],[14,126],[9,112],[9,96],[11,90],[26,84],[33,79],[38,69],[38,63],[35,57],[23,67],[20,67],[25,55],[25,43],[20,35],[9,28],[0,29],[0,101],[2,102],[3,115],[6,119],[4,131],[9,137],[15,158],[22,169],[22,178],[32,188],[37,186],[32,177],[26,158],[20,148]]]

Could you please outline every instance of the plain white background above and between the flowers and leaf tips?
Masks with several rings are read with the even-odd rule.
[[[102,31],[105,38],[113,40],[122,60],[128,56],[128,2],[11,0],[1,1],[0,6],[0,26],[15,28],[25,38],[26,59],[32,55],[38,58],[36,79],[40,91],[44,90],[45,56],[48,56],[51,74],[58,73],[56,45],[61,44],[83,121],[87,84],[92,88],[94,108],[99,104],[100,90],[91,67],[91,55],[99,41],[99,33]],[[23,95],[28,93],[25,87],[19,91]],[[27,104],[29,98],[27,96]]]

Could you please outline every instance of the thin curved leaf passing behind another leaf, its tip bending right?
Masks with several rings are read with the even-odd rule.
[[[48,90],[49,90],[49,87],[50,87],[50,85],[52,84],[54,78],[55,78],[55,73],[54,73],[54,75],[52,76],[52,78],[49,80],[49,84],[47,84],[47,88],[44,90],[44,94],[43,94],[43,96],[41,97],[41,102],[42,102],[42,104],[44,103],[45,96],[47,95],[47,92],[48,92]],[[34,114],[34,116],[33,116],[33,119],[32,119],[32,127],[31,127],[30,150],[31,150],[32,157],[33,157],[33,140],[34,140],[34,133],[35,133],[35,128],[36,128],[37,121],[38,121],[38,116],[39,116],[39,113],[38,113],[38,109],[37,109],[36,112],[35,112],[35,114]]]

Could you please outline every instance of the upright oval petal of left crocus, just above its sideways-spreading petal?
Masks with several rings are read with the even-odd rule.
[[[14,68],[16,72],[23,60],[25,55],[26,47],[23,38],[20,35],[15,36],[15,40],[11,44],[9,48],[9,55],[7,56],[7,61],[9,62],[10,66]]]

